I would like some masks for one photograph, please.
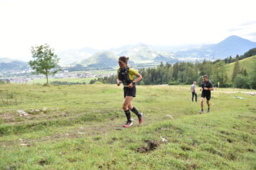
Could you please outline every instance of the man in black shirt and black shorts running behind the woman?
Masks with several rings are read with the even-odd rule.
[[[203,76],[203,81],[202,81],[202,88],[200,91],[202,91],[201,94],[201,111],[200,114],[204,113],[204,98],[207,98],[207,105],[208,105],[208,110],[207,113],[210,112],[210,104],[209,101],[211,99],[211,91],[214,90],[212,87],[212,82],[208,80],[207,75]]]

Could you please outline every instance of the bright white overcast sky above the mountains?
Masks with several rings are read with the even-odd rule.
[[[31,47],[54,51],[127,44],[256,41],[255,0],[0,0],[0,58],[28,61]]]

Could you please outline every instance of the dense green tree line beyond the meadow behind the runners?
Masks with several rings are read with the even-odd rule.
[[[224,60],[207,61],[204,59],[202,63],[177,62],[173,65],[161,62],[156,68],[139,69],[138,72],[143,79],[138,84],[192,84],[193,81],[201,82],[202,76],[206,74],[214,86],[219,84],[219,87],[256,89],[256,62],[253,66],[254,70],[248,75],[246,69],[240,68],[239,61],[238,59],[235,61],[232,77],[228,77],[227,67],[225,67],[227,63]],[[116,76],[101,77],[92,80],[90,84],[95,81],[116,84],[116,79]]]

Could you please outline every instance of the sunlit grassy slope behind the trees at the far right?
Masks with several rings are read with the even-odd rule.
[[[247,59],[242,59],[239,61],[240,69],[242,68],[246,69],[247,73],[250,74],[252,72],[254,62],[256,62],[256,56],[251,56]],[[227,64],[226,68],[227,68],[227,76],[229,78],[229,81],[231,81],[232,74],[234,71],[234,62],[231,64]]]

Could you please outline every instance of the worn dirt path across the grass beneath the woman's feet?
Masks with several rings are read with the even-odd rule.
[[[131,128],[137,128],[138,126],[147,126],[148,124],[152,124],[155,121],[159,121],[161,119],[166,119],[165,116],[161,115],[155,116],[144,116],[145,121],[143,124],[138,124],[136,116],[133,116],[133,126]],[[78,127],[70,127],[66,131],[62,131],[60,133],[55,133],[49,136],[42,136],[34,139],[15,139],[15,140],[1,140],[0,138],[0,147],[11,147],[11,146],[34,146],[36,144],[50,141],[58,142],[63,141],[64,139],[76,139],[84,136],[95,136],[93,140],[98,140],[98,135],[108,136],[113,131],[122,131],[125,116],[123,119],[114,119],[108,121],[100,121],[100,122],[86,122],[85,124],[80,124]],[[77,124],[78,125],[78,124]],[[16,136],[19,136],[17,134]]]

